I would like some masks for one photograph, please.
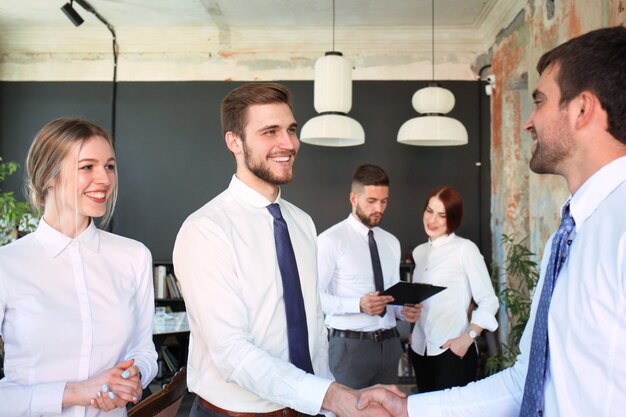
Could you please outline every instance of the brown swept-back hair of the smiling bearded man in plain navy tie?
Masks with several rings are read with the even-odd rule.
[[[222,133],[233,132],[245,140],[245,127],[248,123],[247,110],[254,104],[285,103],[291,107],[289,90],[277,83],[247,83],[232,90],[222,100],[220,118]]]

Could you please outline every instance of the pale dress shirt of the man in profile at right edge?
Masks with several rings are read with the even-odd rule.
[[[571,198],[576,237],[548,313],[545,417],[615,417],[626,409],[626,157],[605,165]],[[517,417],[537,304],[552,238],[541,262],[515,365],[464,388],[409,398],[410,417]]]

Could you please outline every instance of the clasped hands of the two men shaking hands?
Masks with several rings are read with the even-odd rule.
[[[406,394],[395,385],[374,385],[359,391],[332,383],[323,409],[338,417],[408,417]]]

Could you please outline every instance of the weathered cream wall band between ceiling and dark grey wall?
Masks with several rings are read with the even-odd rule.
[[[331,49],[328,33],[320,31],[231,28],[226,36],[206,28],[155,33],[120,27],[116,33],[118,81],[312,80],[315,61]],[[340,35],[337,50],[351,61],[354,80],[431,78],[430,32],[385,28]],[[475,80],[472,64],[486,47],[475,30],[455,35],[438,39],[437,79]],[[99,26],[0,28],[2,81],[109,81],[112,56],[110,34]]]

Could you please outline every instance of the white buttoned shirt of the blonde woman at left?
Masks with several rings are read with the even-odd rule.
[[[152,257],[144,245],[93,222],[71,239],[42,219],[35,232],[0,248],[0,416],[104,415],[62,410],[65,384],[133,358],[148,385],[157,371],[153,316]]]

